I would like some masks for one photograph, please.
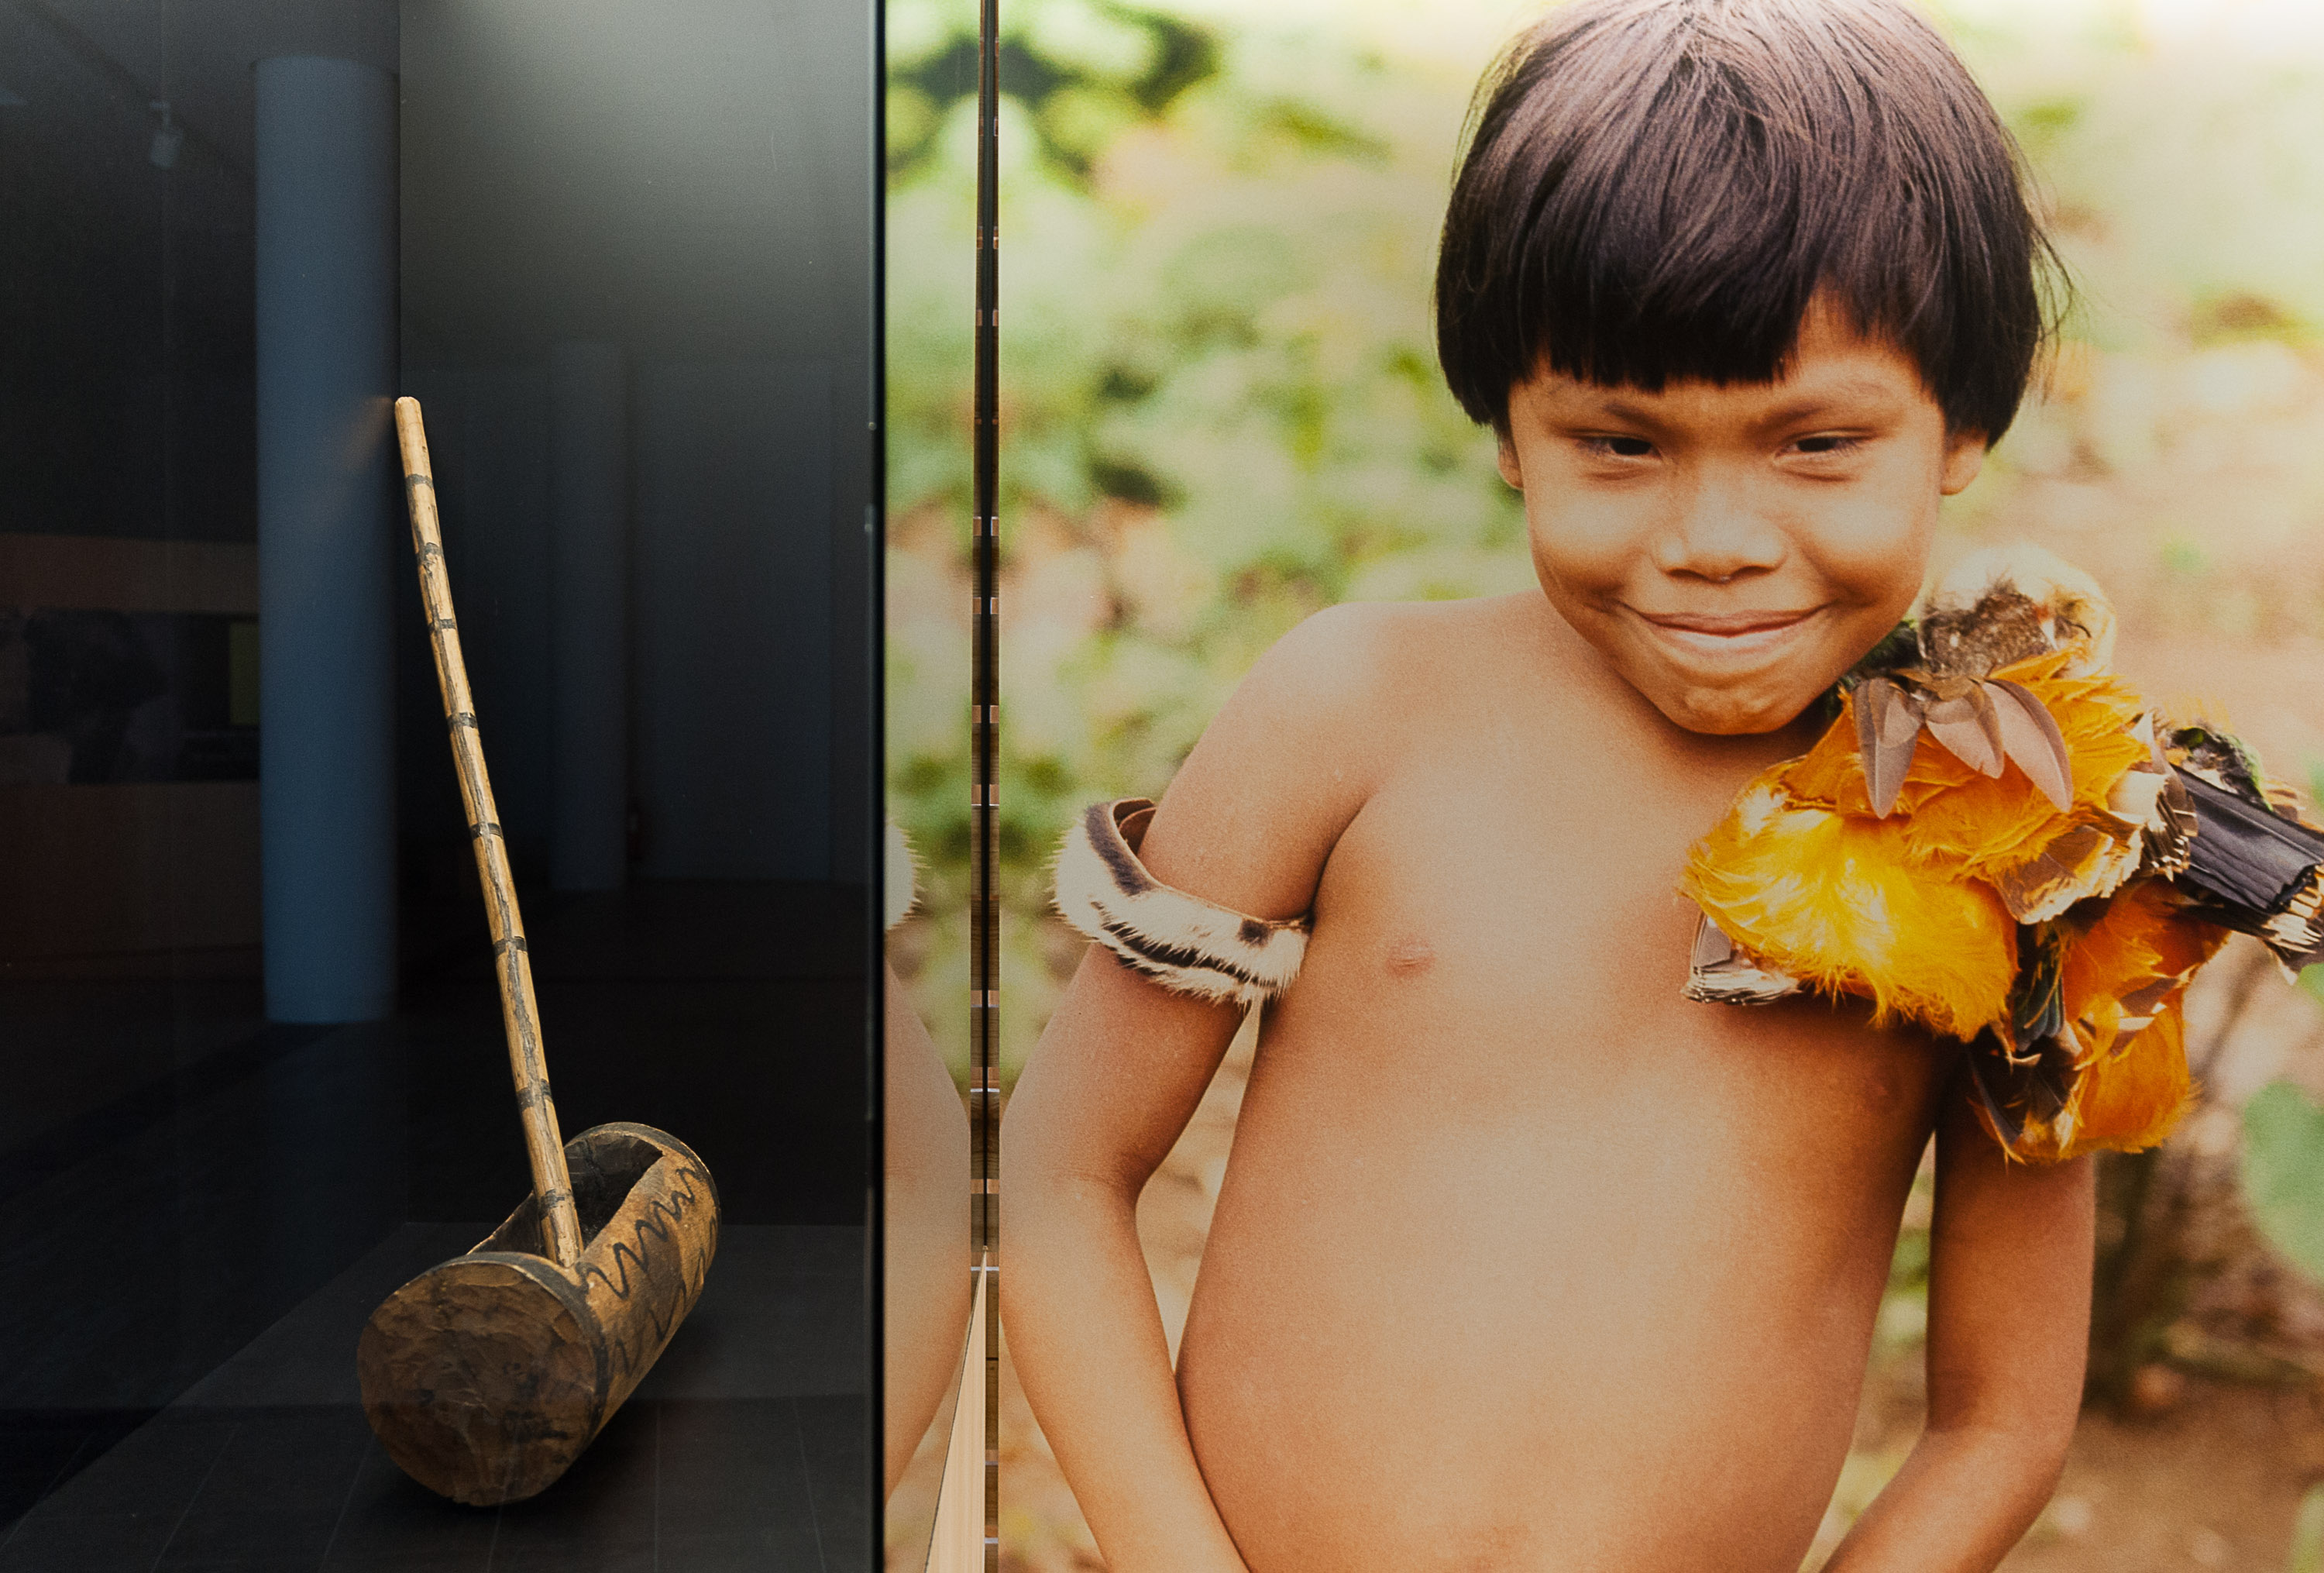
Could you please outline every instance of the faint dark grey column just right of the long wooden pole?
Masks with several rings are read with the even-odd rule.
[[[555,651],[548,876],[630,871],[630,374],[618,344],[548,353],[548,641]]]

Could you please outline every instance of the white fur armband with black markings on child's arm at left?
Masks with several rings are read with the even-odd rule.
[[[1299,976],[1308,922],[1246,918],[1174,890],[1139,862],[1153,802],[1090,804],[1057,853],[1057,911],[1162,987],[1255,1006]]]

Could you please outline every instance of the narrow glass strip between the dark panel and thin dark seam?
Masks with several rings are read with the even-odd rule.
[[[969,19],[967,51],[944,23],[955,12]],[[885,718],[897,850],[885,1055],[885,1566],[913,1573],[983,1566],[985,1540],[985,1385],[981,1338],[969,1327],[974,28],[974,7],[888,9]],[[916,881],[909,895],[904,869]],[[967,1387],[962,1371],[974,1371]]]

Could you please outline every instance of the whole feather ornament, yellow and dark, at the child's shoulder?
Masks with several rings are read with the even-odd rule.
[[[2324,960],[2324,832],[2236,739],[2157,723],[2110,646],[2106,595],[2043,551],[1954,569],[1694,846],[1687,997],[1855,994],[1957,1039],[2013,1157],[2161,1141],[2226,934]]]

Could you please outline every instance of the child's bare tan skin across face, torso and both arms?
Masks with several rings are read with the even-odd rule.
[[[1934,1132],[1929,1427],[1829,1564],[1992,1568],[2047,1499],[2087,1164],[2006,1164],[1952,1048],[1680,999],[1687,846],[1885,634],[1982,441],[1829,314],[1769,386],[1536,374],[1543,595],[1278,644],[1143,843],[1313,913],[1176,1373],[1139,1190],[1236,1018],[1092,950],[1009,1106],[1002,1315],[1113,1573],[1794,1573]]]

